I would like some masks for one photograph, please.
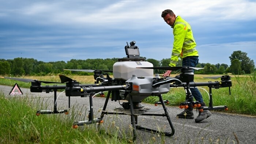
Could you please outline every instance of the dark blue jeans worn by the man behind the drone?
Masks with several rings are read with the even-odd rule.
[[[188,67],[196,67],[198,64],[198,56],[188,56],[182,59],[182,67],[188,66]],[[191,81],[194,82],[194,81]],[[191,93],[193,97],[196,99],[196,101],[199,101],[200,103],[204,102],[202,94],[197,88],[190,88]]]

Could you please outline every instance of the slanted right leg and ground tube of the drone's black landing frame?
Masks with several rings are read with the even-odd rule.
[[[164,134],[165,136],[173,136],[175,130],[174,130],[174,126],[172,124],[172,121],[170,119],[169,112],[166,109],[165,102],[163,101],[162,95],[158,95],[158,97],[159,97],[159,101],[161,102],[161,104],[163,106],[163,110],[165,111],[165,114],[162,114],[162,116],[166,116],[166,118],[167,118],[167,120],[170,124],[170,127],[172,129],[172,133],[170,133],[170,132],[161,132],[161,131],[154,130],[154,129],[144,128],[144,127],[138,126],[138,125],[136,125],[136,129],[145,130],[145,131],[154,132],[154,133],[159,133],[159,134]],[[145,114],[142,114],[142,115],[145,115]],[[151,115],[151,114],[148,114],[148,115]],[[152,115],[154,115],[154,114],[152,114]]]

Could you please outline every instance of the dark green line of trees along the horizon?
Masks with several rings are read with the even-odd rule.
[[[143,57],[145,58],[145,57]],[[234,51],[229,57],[231,65],[227,64],[210,64],[198,63],[196,67],[204,68],[195,71],[195,74],[245,74],[251,73],[255,70],[253,60],[247,57],[247,53],[241,51]],[[153,58],[145,58],[145,61],[151,62],[154,67],[168,66],[170,58],[163,58],[162,60],[155,60]],[[72,59],[70,61],[56,61],[56,62],[43,62],[37,61],[34,58],[14,58],[13,60],[0,59],[0,75],[11,76],[44,76],[49,73],[71,73],[70,71],[64,72],[63,69],[100,69],[100,70],[113,70],[113,64],[118,62],[118,58],[96,58],[86,60]],[[181,66],[181,60],[178,61],[177,66]],[[154,73],[162,74],[163,70],[154,70]],[[87,72],[72,72],[77,75],[93,75]]]

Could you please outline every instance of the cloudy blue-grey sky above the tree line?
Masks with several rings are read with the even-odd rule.
[[[166,9],[191,24],[199,62],[230,65],[237,50],[256,62],[255,0],[0,0],[0,58],[123,58],[133,40],[140,56],[170,58]]]

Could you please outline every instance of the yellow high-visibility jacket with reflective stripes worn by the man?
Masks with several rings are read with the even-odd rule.
[[[193,37],[191,26],[188,22],[177,16],[173,26],[173,50],[169,66],[175,67],[178,58],[181,59],[187,56],[199,56],[196,47],[196,42]]]

